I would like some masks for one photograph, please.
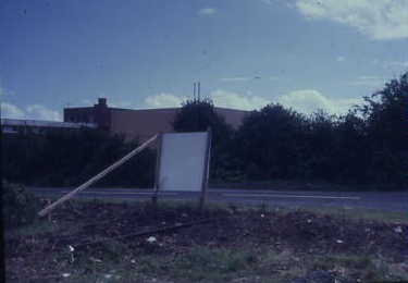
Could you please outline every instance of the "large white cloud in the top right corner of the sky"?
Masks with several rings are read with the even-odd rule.
[[[344,24],[372,39],[408,37],[408,4],[405,0],[297,0],[296,7],[308,19]]]

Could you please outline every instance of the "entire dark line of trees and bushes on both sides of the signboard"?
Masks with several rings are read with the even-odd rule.
[[[306,116],[271,103],[248,112],[238,130],[215,113],[213,102],[186,100],[175,132],[212,128],[212,180],[331,182],[401,189],[407,164],[407,73],[364,97],[344,115]],[[102,130],[49,131],[2,136],[2,176],[38,186],[75,186],[138,145]],[[97,183],[152,186],[156,152],[146,150]]]

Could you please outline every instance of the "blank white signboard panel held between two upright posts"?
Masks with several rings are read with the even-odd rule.
[[[159,190],[200,192],[208,172],[209,134],[163,134]]]

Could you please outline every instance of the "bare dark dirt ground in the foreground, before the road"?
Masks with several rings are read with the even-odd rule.
[[[248,261],[254,266],[245,275],[231,275],[231,282],[274,282],[269,279],[280,275],[283,282],[296,283],[375,279],[362,271],[369,268],[363,260],[357,260],[357,268],[353,262],[342,268],[299,262],[298,273],[288,272],[294,262],[317,258],[325,261],[336,255],[367,255],[400,268],[401,272],[407,269],[407,225],[403,223],[356,221],[304,211],[283,213],[262,207],[243,210],[231,206],[202,214],[191,205],[154,208],[149,204],[94,201],[57,209],[51,224],[58,229],[5,237],[7,282],[82,282],[65,276],[64,272],[82,270],[79,275],[81,272],[98,272],[91,267],[95,262],[106,261],[107,253],[118,253],[111,258],[127,269],[122,259],[137,263],[139,255],[149,255],[176,260],[195,246],[238,251],[249,247],[259,258],[265,258],[268,250],[273,250],[274,255],[289,250],[293,260],[273,264],[268,260]],[[109,243],[120,245],[108,248]],[[83,260],[85,254],[92,258],[92,264]],[[373,272],[376,268],[380,270],[381,266],[374,264]],[[137,272],[140,274],[143,270]],[[161,271],[159,267],[151,276],[145,274],[136,281],[190,282],[195,279],[174,275],[171,269]],[[200,281],[211,282],[206,278]]]

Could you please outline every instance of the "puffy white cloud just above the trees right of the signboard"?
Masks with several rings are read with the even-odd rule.
[[[361,103],[362,99],[329,99],[319,90],[300,89],[279,97],[279,102],[304,114],[311,114],[319,109],[332,114],[345,114],[353,106]]]

